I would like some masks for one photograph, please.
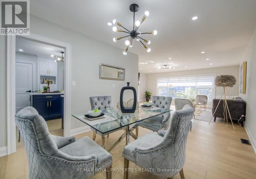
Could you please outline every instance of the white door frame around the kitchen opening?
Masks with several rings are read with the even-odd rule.
[[[64,136],[70,136],[71,130],[71,45],[48,37],[30,33],[23,36],[29,40],[39,41],[65,48],[65,100],[64,100]],[[15,45],[16,36],[7,36],[7,155],[16,152],[15,117]]]

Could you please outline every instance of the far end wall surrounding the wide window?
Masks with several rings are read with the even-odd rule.
[[[157,78],[162,76],[174,76],[174,75],[190,75],[190,74],[206,74],[216,73],[216,76],[221,74],[232,74],[237,79],[237,84],[233,88],[228,88],[227,94],[230,96],[238,96],[238,83],[239,83],[239,65],[237,66],[225,66],[218,68],[205,68],[197,70],[185,70],[185,71],[173,71],[164,73],[148,73],[146,75],[146,90],[152,92],[152,95],[157,95]],[[222,95],[223,88],[216,87],[216,97]]]

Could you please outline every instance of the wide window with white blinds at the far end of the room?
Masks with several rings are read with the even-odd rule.
[[[205,94],[208,100],[215,96],[215,74],[167,76],[157,79],[159,96],[178,98],[195,98],[198,94]]]

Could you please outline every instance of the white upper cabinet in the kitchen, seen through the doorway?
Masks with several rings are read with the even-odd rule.
[[[57,70],[57,63],[46,60],[39,60],[39,75],[57,76]]]

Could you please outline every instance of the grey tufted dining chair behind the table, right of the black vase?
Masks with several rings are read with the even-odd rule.
[[[172,103],[172,97],[169,96],[153,96],[152,106],[164,109],[170,109],[170,104]],[[136,127],[136,136],[138,136],[138,127],[144,127],[154,132],[158,132],[161,129],[167,129],[168,119],[170,117],[170,112],[151,117],[149,119],[143,120],[138,123]]]

